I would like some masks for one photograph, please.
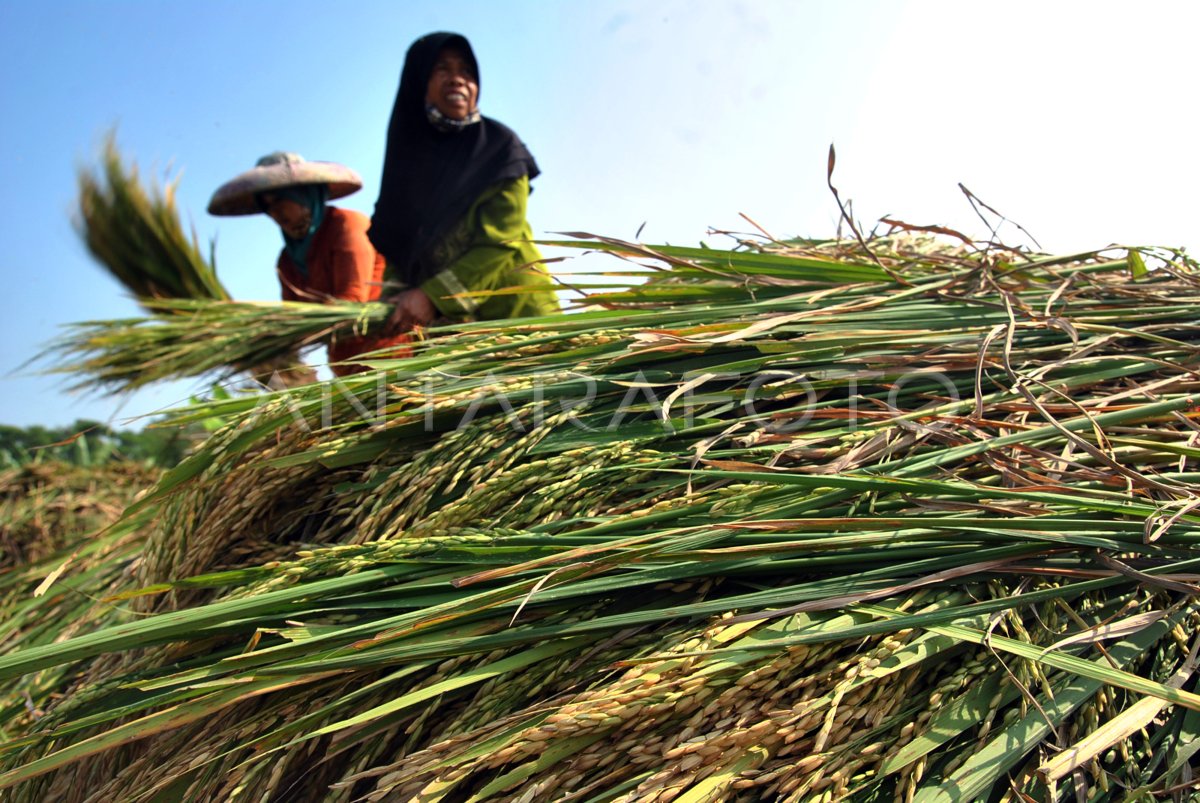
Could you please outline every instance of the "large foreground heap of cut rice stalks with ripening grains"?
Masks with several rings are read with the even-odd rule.
[[[0,655],[0,787],[1194,789],[1195,265],[589,245],[656,277],[180,413],[120,607]]]

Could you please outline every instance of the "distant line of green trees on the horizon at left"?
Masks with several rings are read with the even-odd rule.
[[[60,427],[0,424],[0,468],[50,460],[79,466],[130,460],[168,468],[182,460],[202,435],[199,426],[114,430],[86,419]]]

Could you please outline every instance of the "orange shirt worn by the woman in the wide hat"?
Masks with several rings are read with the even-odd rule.
[[[330,299],[343,301],[377,301],[383,289],[383,254],[376,252],[367,239],[371,220],[352,209],[325,208],[325,220],[313,234],[306,262],[305,276],[292,262],[287,251],[280,252],[276,270],[284,301],[323,304]],[[408,335],[395,337],[334,335],[329,343],[329,361],[340,362],[355,354],[373,352],[409,342]],[[397,356],[409,350],[397,349]],[[334,373],[342,377],[366,370],[360,365],[335,365]]]

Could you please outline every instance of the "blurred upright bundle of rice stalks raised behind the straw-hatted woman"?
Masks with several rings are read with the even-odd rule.
[[[98,174],[79,172],[77,228],[96,260],[138,300],[229,299],[196,233],[184,233],[175,185],[143,187],[137,168],[122,163],[113,134]]]

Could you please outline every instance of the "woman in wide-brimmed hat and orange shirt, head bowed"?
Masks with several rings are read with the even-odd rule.
[[[284,301],[374,301],[383,288],[384,259],[367,239],[370,221],[326,200],[356,192],[362,179],[335,162],[310,162],[276,151],[223,184],[209,202],[212,215],[265,212],[283,233],[277,271]],[[365,370],[344,361],[364,352],[408,342],[400,336],[335,335],[334,373]]]

